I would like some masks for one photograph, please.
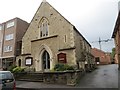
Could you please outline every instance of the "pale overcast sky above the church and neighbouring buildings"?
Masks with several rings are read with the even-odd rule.
[[[119,0],[47,0],[70,21],[88,40],[99,48],[101,40],[110,39],[118,15]],[[0,23],[19,17],[28,23],[32,20],[42,0],[0,0]],[[102,50],[111,51],[114,42],[102,42]]]

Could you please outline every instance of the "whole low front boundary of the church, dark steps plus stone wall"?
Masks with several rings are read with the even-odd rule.
[[[51,84],[76,85],[80,78],[84,75],[83,70],[54,71],[54,72],[29,72],[15,74],[17,80],[23,81],[42,81]]]

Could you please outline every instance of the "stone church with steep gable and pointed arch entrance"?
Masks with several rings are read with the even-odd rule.
[[[35,71],[49,71],[57,63],[85,70],[95,64],[93,58],[88,41],[43,0],[22,39],[22,54],[16,63]]]

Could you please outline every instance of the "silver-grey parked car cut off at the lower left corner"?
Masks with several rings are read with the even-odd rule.
[[[0,71],[0,90],[16,90],[16,82],[10,71]]]

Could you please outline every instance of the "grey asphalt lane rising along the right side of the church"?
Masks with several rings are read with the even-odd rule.
[[[101,65],[81,78],[80,88],[118,88],[118,65]]]

